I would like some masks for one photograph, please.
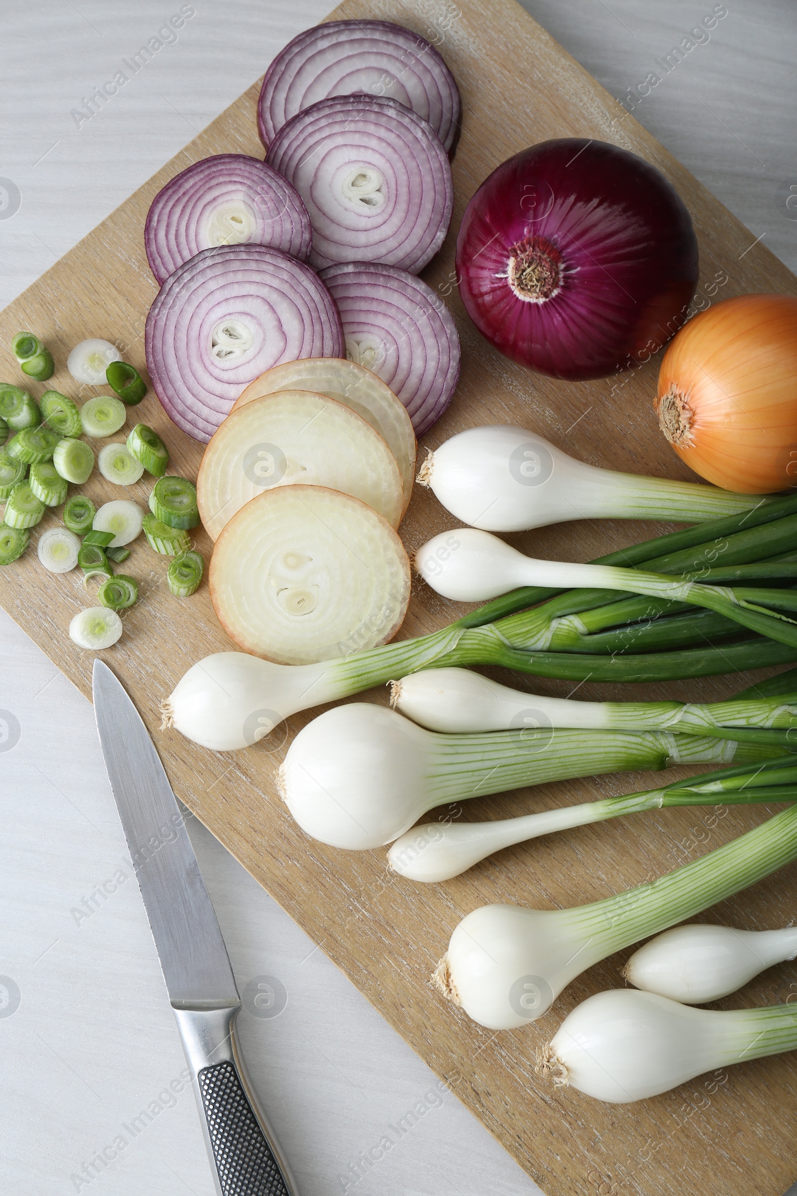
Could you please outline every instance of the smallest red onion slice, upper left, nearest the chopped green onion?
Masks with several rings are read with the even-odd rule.
[[[152,201],[143,231],[158,282],[214,245],[271,245],[309,254],[307,209],[294,188],[258,158],[220,153],[176,175]]]

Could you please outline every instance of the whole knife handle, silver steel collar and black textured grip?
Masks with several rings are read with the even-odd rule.
[[[174,1009],[217,1196],[296,1196],[235,1036],[240,1006]]]

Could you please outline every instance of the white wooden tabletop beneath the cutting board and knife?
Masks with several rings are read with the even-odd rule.
[[[629,97],[642,123],[797,269],[797,200],[795,210],[787,207],[797,194],[797,14],[790,0],[737,4],[731,0],[707,44],[667,71],[667,55],[715,8],[711,0],[666,7],[527,0],[546,29],[615,96]],[[111,212],[329,6],[33,0],[12,10],[6,0],[0,303]],[[91,118],[73,115],[180,8],[194,14],[174,44]],[[650,73],[660,83],[639,99],[638,84]],[[1,611],[0,720],[0,730],[10,728],[0,734],[0,1190],[210,1196],[194,1098],[174,1091],[182,1051],[91,706]],[[244,993],[244,1049],[302,1196],[538,1192],[324,953],[190,823]],[[274,997],[256,1003],[258,991]],[[411,1111],[415,1118],[406,1117]],[[363,1152],[385,1136],[393,1148],[366,1167]]]

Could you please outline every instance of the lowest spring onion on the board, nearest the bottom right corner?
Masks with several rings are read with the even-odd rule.
[[[557,1087],[627,1104],[704,1072],[797,1049],[797,1006],[692,1009],[654,993],[596,993],[568,1014],[538,1054]]]

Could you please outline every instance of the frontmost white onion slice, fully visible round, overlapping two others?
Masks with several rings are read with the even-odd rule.
[[[245,652],[312,664],[396,634],[410,562],[390,524],[358,499],[277,487],[241,507],[216,541],[210,598]]]

